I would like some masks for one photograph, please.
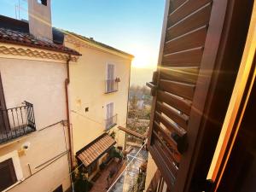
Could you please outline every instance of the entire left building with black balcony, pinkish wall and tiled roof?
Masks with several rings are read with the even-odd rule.
[[[49,0],[28,4],[29,13],[40,18],[50,11]],[[67,63],[79,53],[44,37],[52,34],[50,22],[46,27],[38,20],[0,19],[0,191],[67,191],[65,82]],[[38,36],[33,27],[44,32]]]

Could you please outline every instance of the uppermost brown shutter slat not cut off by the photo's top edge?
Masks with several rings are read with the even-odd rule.
[[[179,20],[175,25],[170,26],[166,30],[166,41],[172,38],[195,30],[201,26],[207,26],[211,15],[212,5],[209,3],[201,9],[196,10],[194,13],[186,16],[182,20]]]

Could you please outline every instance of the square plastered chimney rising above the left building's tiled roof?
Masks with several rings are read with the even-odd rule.
[[[29,32],[38,39],[52,42],[50,0],[28,0]]]

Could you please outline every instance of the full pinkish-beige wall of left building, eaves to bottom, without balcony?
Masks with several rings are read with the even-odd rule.
[[[20,161],[18,172],[22,173],[24,181],[9,191],[52,191],[61,183],[66,190],[70,187],[67,154],[40,172],[38,171],[48,164],[35,168],[67,150],[61,124],[40,131],[48,125],[67,119],[64,88],[64,80],[67,76],[66,65],[0,58],[0,70],[7,108],[19,107],[25,100],[31,102],[37,126],[37,131],[27,137],[0,145],[1,161],[4,155],[17,153],[24,143],[30,143],[25,154],[18,157]],[[67,136],[67,131],[65,134]],[[32,177],[28,164],[34,174]]]

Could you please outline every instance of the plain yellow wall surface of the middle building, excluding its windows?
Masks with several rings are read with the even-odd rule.
[[[79,61],[70,66],[69,89],[75,153],[102,135],[108,102],[113,102],[113,113],[118,114],[118,125],[126,125],[131,59],[67,42],[66,46],[82,54]],[[117,92],[105,94],[108,63],[115,65],[115,77],[119,77],[121,81]],[[89,112],[85,113],[85,108],[89,108]],[[113,130],[116,131],[116,142],[124,147],[125,133],[119,131],[117,126],[111,131]]]

